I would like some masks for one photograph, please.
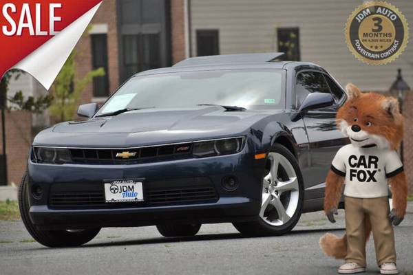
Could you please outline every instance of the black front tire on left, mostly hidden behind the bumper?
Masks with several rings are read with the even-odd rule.
[[[33,239],[50,248],[78,246],[91,241],[100,231],[100,228],[85,230],[39,230],[29,217],[28,177],[23,175],[19,186],[19,209],[21,219]]]

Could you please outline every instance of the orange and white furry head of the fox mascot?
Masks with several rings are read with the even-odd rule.
[[[403,139],[403,116],[396,98],[361,93],[355,85],[346,86],[347,101],[337,112],[337,126],[354,146],[399,147]]]

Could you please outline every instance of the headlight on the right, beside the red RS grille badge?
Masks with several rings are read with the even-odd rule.
[[[195,157],[211,157],[214,155],[235,154],[242,150],[244,137],[231,137],[222,140],[195,142],[193,155]]]

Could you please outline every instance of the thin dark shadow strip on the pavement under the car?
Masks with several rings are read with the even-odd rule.
[[[293,230],[284,236],[296,235],[296,234],[309,234],[309,233],[320,233],[320,232],[332,232],[332,231],[343,231],[343,228],[329,228],[329,229],[305,229],[305,230]],[[99,242],[99,243],[89,243],[83,245],[87,248],[98,248],[107,246],[123,246],[123,245],[150,245],[157,243],[178,243],[178,242],[191,242],[191,241],[219,241],[219,240],[229,240],[229,239],[248,239],[248,238],[271,238],[277,236],[245,236],[240,233],[214,233],[214,234],[199,234],[189,237],[163,237],[151,239],[138,239],[129,241],[110,241],[110,242]]]

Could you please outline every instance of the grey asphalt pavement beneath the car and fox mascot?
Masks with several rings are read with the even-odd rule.
[[[105,228],[79,248],[45,248],[21,221],[0,221],[0,274],[337,274],[342,261],[319,249],[326,232],[344,233],[343,211],[329,223],[304,214],[284,236],[243,237],[230,223],[202,225],[191,238],[165,238],[155,227]],[[413,275],[413,212],[396,227],[401,274]],[[379,274],[372,240],[368,274]]]

